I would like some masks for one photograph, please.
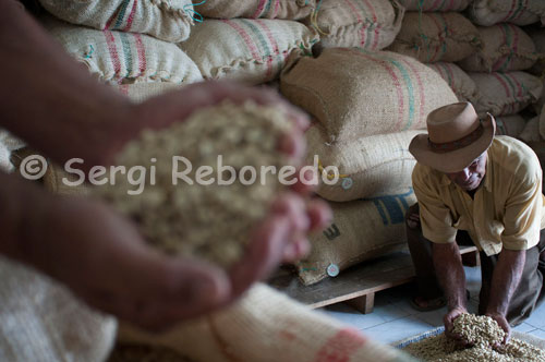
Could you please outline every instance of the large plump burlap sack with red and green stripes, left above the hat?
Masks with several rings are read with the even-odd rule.
[[[317,59],[290,62],[280,89],[323,124],[328,142],[423,129],[432,110],[458,101],[415,59],[358,48],[325,49]]]

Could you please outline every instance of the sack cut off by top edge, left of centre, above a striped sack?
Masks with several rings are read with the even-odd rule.
[[[307,17],[316,8],[316,0],[214,0],[198,5],[196,11],[215,19],[284,19]]]

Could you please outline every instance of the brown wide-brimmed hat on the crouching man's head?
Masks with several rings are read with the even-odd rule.
[[[494,117],[480,119],[470,102],[437,108],[427,116],[427,134],[412,138],[409,152],[420,164],[458,172],[483,154],[496,133]]]

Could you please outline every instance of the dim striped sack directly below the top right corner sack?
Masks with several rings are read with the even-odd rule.
[[[523,71],[537,61],[532,38],[517,25],[501,23],[477,29],[483,48],[458,63],[464,71]]]

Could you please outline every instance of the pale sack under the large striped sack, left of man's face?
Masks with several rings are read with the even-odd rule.
[[[422,132],[404,131],[330,144],[322,128],[313,125],[305,133],[306,162],[312,165],[317,157],[318,167],[329,176],[318,178],[317,194],[329,201],[347,202],[407,190],[416,164],[408,148],[419,133]],[[339,170],[337,182],[327,168],[330,166]],[[324,181],[335,183],[329,185]]]

